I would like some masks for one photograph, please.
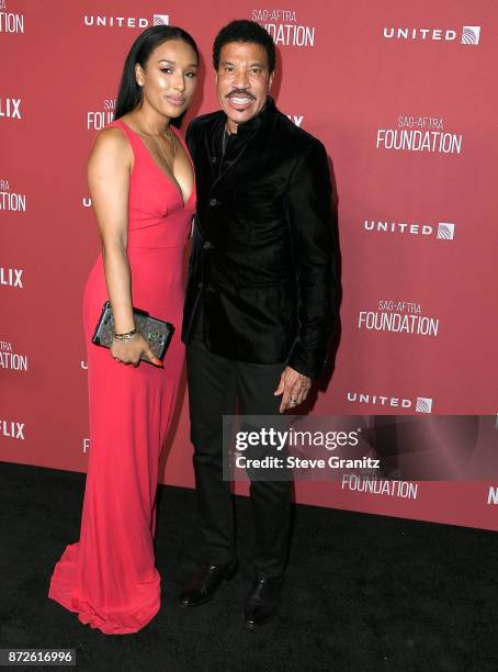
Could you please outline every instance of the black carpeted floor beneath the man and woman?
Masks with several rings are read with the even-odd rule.
[[[236,503],[238,574],[184,611],[174,597],[195,559],[194,497],[160,486],[161,611],[137,635],[110,637],[47,598],[78,539],[84,474],[0,463],[0,648],[72,648],[84,671],[498,670],[494,533],[297,506],[280,613],[248,631],[248,501]]]

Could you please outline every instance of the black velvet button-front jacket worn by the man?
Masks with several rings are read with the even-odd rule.
[[[337,304],[326,150],[269,98],[230,136],[218,173],[225,121],[220,111],[204,114],[186,132],[197,213],[182,339],[202,303],[212,352],[317,378]]]

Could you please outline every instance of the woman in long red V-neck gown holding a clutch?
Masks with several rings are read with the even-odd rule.
[[[195,208],[192,161],[171,121],[192,101],[197,65],[181,29],[145,31],[124,66],[116,121],[89,159],[102,239],[83,299],[90,455],[80,538],[57,562],[49,597],[106,635],[138,631],[160,606],[156,488],[183,367],[183,256]],[[111,350],[90,341],[107,298]],[[133,306],[176,326],[163,366],[135,333]]]

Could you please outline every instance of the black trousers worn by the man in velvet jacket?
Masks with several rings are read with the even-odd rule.
[[[202,317],[186,348],[197,516],[206,560],[227,564],[237,556],[230,482],[223,480],[223,415],[233,415],[236,402],[242,416],[279,415],[282,397],[273,392],[285,362],[258,365],[214,355],[202,340],[201,325]],[[253,480],[254,474],[248,473],[254,573],[278,576],[287,553],[291,485],[285,480]]]

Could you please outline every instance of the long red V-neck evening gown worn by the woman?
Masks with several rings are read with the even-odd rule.
[[[156,486],[184,360],[183,256],[195,190],[183,203],[180,190],[140,137],[120,120],[110,125],[126,133],[135,157],[127,248],[133,304],[171,322],[176,331],[163,369],[145,362],[125,366],[107,349],[91,344],[107,299],[102,257],[98,258],[83,299],[90,453],[80,538],[57,562],[48,594],[76,612],[81,623],[106,635],[124,635],[143,628],[160,606],[152,546]]]

